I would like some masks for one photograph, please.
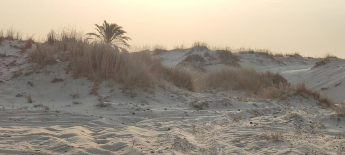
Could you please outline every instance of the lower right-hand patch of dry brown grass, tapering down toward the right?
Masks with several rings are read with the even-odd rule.
[[[309,89],[305,83],[290,84],[278,73],[257,72],[248,68],[223,66],[207,71],[199,79],[199,87],[204,91],[213,90],[249,90],[265,99],[284,98],[287,95],[312,97],[329,107],[335,102],[319,91]]]

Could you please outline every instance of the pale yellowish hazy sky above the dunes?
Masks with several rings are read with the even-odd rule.
[[[0,29],[44,38],[54,28],[94,32],[104,19],[132,44],[207,41],[345,58],[345,0],[0,0]]]

